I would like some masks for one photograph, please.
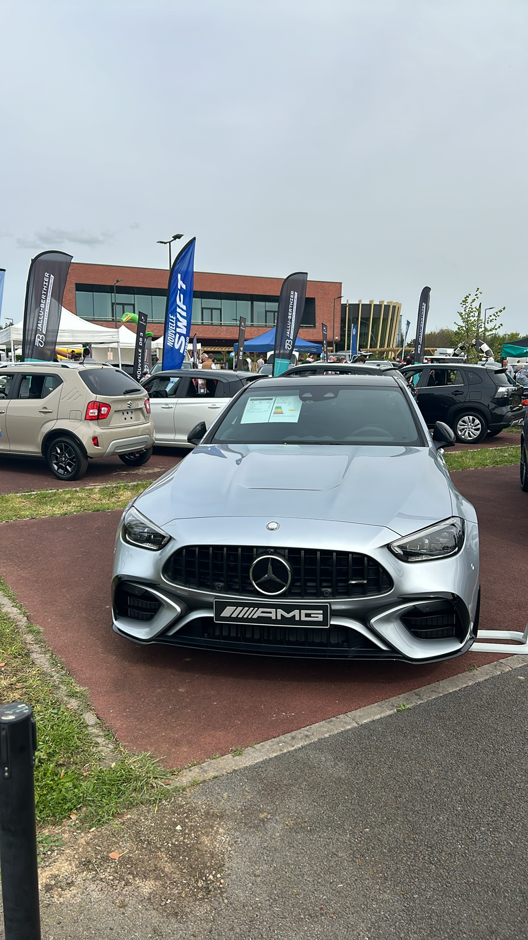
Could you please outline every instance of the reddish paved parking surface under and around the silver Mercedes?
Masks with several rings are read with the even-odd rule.
[[[517,468],[461,471],[453,479],[480,519],[481,626],[522,630],[528,602],[517,587],[528,566],[522,541],[528,496],[520,491]],[[111,628],[119,514],[5,523],[0,571],[54,652],[89,689],[96,713],[123,744],[153,751],[166,766],[266,741],[493,659],[470,651],[446,663],[407,666],[136,646]]]

